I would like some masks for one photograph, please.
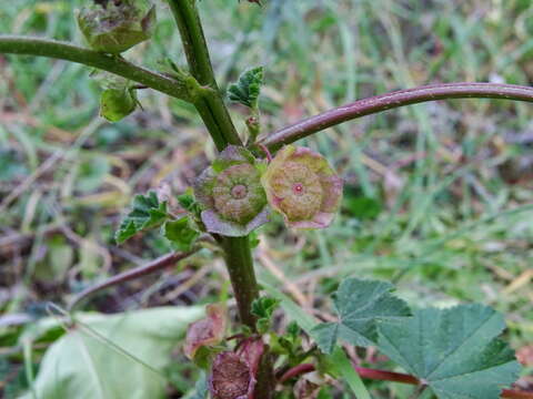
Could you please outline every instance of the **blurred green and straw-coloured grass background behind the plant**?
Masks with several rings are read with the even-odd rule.
[[[73,18],[80,4],[2,1],[0,33],[82,43]],[[249,66],[265,66],[265,134],[420,84],[533,84],[530,0],[269,0],[263,8],[203,0],[199,8],[222,88]],[[165,58],[185,65],[163,2],[158,12],[154,39],[124,57],[152,69]],[[164,185],[182,192],[214,153],[190,105],[151,91],[140,93],[144,111],[117,124],[99,119],[100,89],[89,72],[0,55],[0,310],[9,320],[40,317],[47,301],[64,305],[167,253],[150,234],[117,247],[121,212],[134,193]],[[244,132],[243,110],[231,110]],[[345,178],[342,213],[323,232],[263,227],[258,272],[294,283],[291,293],[319,317],[348,275],[394,280],[414,306],[491,305],[505,314],[507,337],[531,367],[532,115],[531,104],[455,100],[305,140]],[[105,291],[88,308],[207,303],[220,295],[222,273],[220,260],[202,253],[161,277]],[[0,355],[12,354],[14,321],[0,335]],[[409,396],[398,385],[370,386],[380,398]]]

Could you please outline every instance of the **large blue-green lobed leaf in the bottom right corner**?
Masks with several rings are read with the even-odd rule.
[[[495,339],[505,328],[490,307],[418,310],[379,326],[379,348],[424,380],[439,399],[497,399],[520,371],[514,352]]]

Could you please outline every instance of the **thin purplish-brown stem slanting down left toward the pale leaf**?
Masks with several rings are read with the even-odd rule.
[[[197,249],[198,250],[198,249]],[[192,254],[194,254],[197,250],[191,250],[188,253],[172,253],[168,255],[163,255],[159,258],[157,258],[153,262],[150,262],[147,265],[139,266],[137,268],[127,270],[124,273],[120,273],[117,276],[113,276],[111,278],[108,278],[107,280],[97,284],[92,287],[89,287],[84,290],[82,290],[80,294],[78,294],[69,304],[69,311],[76,310],[78,306],[80,306],[82,303],[88,300],[90,297],[92,297],[94,294],[101,291],[102,289],[113,287],[115,285],[123,284],[125,282],[130,282],[140,277],[148,276],[149,274],[160,272],[167,267],[174,266],[177,262],[184,259]]]

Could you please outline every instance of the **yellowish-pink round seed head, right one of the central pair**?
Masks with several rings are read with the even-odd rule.
[[[270,205],[289,227],[328,227],[342,200],[342,180],[322,155],[305,147],[280,150],[262,183]]]

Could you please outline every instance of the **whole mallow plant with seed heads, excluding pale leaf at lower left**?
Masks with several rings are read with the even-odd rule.
[[[248,1],[261,7],[259,0]],[[2,53],[49,57],[92,68],[102,86],[101,116],[111,122],[139,108],[139,89],[191,103],[218,150],[190,190],[175,194],[179,213],[171,212],[168,194],[140,193],[118,226],[118,245],[155,229],[174,252],[86,289],[69,305],[69,313],[76,315],[87,298],[103,288],[157,273],[203,248],[225,259],[239,321],[229,323],[232,303],[211,304],[204,317],[189,326],[183,351],[202,370],[193,398],[333,398],[344,389],[344,397],[368,399],[371,395],[364,379],[414,385],[413,398],[533,398],[533,393],[512,389],[521,368],[499,338],[505,329],[504,318],[490,307],[414,308],[393,294],[390,283],[352,277],[340,282],[332,296],[336,317],[321,323],[279,288],[259,285],[253,265],[254,232],[273,215],[281,215],[286,228],[321,229],[332,223],[342,202],[343,181],[331,160],[293,143],[356,117],[426,101],[490,98],[533,102],[533,89],[435,84],[359,100],[276,132],[262,132],[258,100],[263,69],[243,71],[223,93],[202,30],[201,2],[167,3],[188,65],[168,60],[164,72],[147,70],[139,65],[142,60],[122,57],[153,33],[157,12],[149,0],[88,0],[76,14],[86,47],[0,35]],[[249,110],[244,137],[235,130],[229,102]],[[291,320],[282,330],[272,317],[276,309]],[[363,368],[346,355],[346,348],[369,347],[402,372]],[[128,389],[134,390],[134,381],[128,383]],[[39,397],[39,391],[33,393]]]

